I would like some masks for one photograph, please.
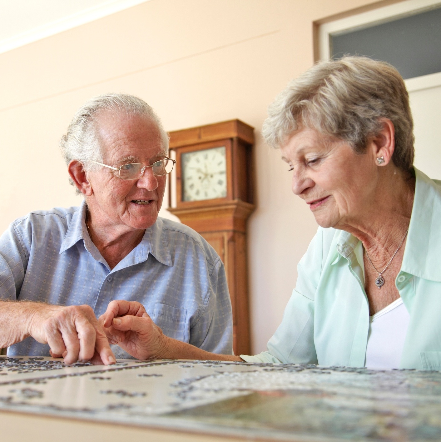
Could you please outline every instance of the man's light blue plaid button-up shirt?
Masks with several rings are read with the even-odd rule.
[[[138,301],[165,335],[207,351],[232,354],[231,303],[223,263],[189,227],[158,218],[143,240],[110,270],[90,240],[86,205],[36,211],[0,238],[0,298],[92,307]],[[131,358],[113,346],[117,358]],[[33,338],[10,355],[49,356]]]

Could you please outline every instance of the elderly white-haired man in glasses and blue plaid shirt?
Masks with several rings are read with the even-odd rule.
[[[144,358],[145,328],[106,324],[125,316],[173,341],[232,354],[222,261],[192,229],[158,218],[174,160],[151,107],[131,95],[99,96],[60,144],[84,202],[32,212],[1,236],[0,347],[66,363]],[[119,346],[112,351],[109,341]]]

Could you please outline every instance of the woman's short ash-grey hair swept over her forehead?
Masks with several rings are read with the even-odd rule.
[[[382,118],[395,126],[393,163],[410,171],[414,160],[409,95],[399,72],[384,61],[343,57],[322,61],[292,80],[268,107],[263,136],[280,147],[301,127],[349,143],[363,153]]]

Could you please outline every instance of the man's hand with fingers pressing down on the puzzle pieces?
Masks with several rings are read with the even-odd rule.
[[[54,358],[63,356],[66,364],[90,361],[109,365],[116,362],[106,334],[89,305],[26,304],[31,304],[34,310],[30,312],[26,334],[49,344]]]

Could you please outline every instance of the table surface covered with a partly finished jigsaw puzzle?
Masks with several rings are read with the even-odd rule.
[[[441,372],[0,356],[0,427],[20,438],[32,429],[37,441],[38,428],[43,440],[57,426],[72,440],[86,431],[97,441],[433,441],[441,439]]]

